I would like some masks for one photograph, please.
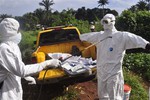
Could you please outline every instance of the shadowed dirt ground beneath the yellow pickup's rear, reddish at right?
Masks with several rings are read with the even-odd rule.
[[[69,88],[74,88],[78,94],[78,100],[97,100],[97,82],[88,80],[84,82],[72,83],[68,85],[28,85],[26,81],[23,84],[23,100],[54,100],[61,96]]]

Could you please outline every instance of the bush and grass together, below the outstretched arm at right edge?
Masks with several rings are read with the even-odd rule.
[[[132,87],[130,100],[148,100],[148,82],[150,82],[150,54],[126,54],[123,66],[125,83]]]

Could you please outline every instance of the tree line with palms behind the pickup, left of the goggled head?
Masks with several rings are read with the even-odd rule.
[[[103,2],[100,0],[99,3],[102,5],[106,5],[108,0],[104,0]],[[43,6],[44,9],[38,8],[34,12],[29,12],[24,14],[23,16],[15,16],[17,20],[21,23],[21,29],[23,30],[35,30],[36,25],[41,26],[54,26],[54,25],[64,25],[70,24],[71,22],[77,21],[82,23],[82,21],[87,22],[96,22],[103,17],[103,11],[105,13],[113,13],[114,15],[118,15],[118,12],[110,9],[86,9],[85,7],[81,7],[77,10],[67,9],[62,12],[53,11],[52,5],[54,4],[53,0],[42,0],[39,2],[40,6]],[[2,17],[2,15],[0,15]],[[4,17],[3,17],[4,18]],[[2,18],[2,19],[3,19]],[[79,21],[78,21],[79,20]],[[77,24],[76,22],[76,24]],[[84,22],[83,22],[84,23]]]

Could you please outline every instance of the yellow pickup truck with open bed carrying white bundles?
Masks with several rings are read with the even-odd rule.
[[[72,54],[72,48],[75,46],[81,52],[81,57],[96,59],[96,48],[92,46],[86,50],[89,43],[82,42],[79,39],[80,31],[74,26],[56,26],[49,27],[38,33],[36,40],[36,50],[32,54],[32,62],[40,63],[47,59],[51,59],[48,54],[64,53]],[[96,67],[91,68],[91,73],[87,72],[69,74],[64,68],[47,69],[41,71],[36,77],[39,83],[55,83],[81,78],[85,79],[89,76],[95,76]],[[44,82],[43,82],[44,81]]]

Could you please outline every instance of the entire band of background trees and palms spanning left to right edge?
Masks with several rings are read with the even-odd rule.
[[[93,9],[81,7],[78,8],[77,10],[67,9],[61,12],[58,11],[52,12],[51,6],[54,4],[53,0],[42,0],[42,2],[39,3],[39,5],[43,6],[44,9],[38,8],[33,13],[31,12],[26,13],[23,16],[19,16],[19,17],[16,16],[15,18],[21,23],[21,29],[23,30],[35,30],[37,28],[36,27],[37,25],[50,27],[50,26],[58,26],[58,25],[60,26],[60,25],[68,25],[68,24],[73,24],[79,26],[80,28],[85,25],[88,29],[90,22],[95,22],[95,23],[100,22],[101,18],[103,17],[103,10],[105,10],[105,13],[112,13],[115,16],[118,16],[116,25],[119,30],[130,31],[138,34],[140,34],[138,31],[144,32],[144,30],[146,30],[144,34],[148,34],[148,28],[146,28],[146,26],[149,25],[147,21],[150,19],[148,17],[149,2],[150,0],[140,0],[136,5],[132,6],[130,9],[124,11],[120,16],[118,16],[117,11],[111,10],[109,8],[104,8],[104,7],[103,9],[97,7]],[[108,4],[108,0],[99,0],[98,3],[99,6],[100,5],[104,6]],[[139,12],[139,11],[143,11],[143,12]],[[7,14],[0,15],[1,19],[5,17],[12,17],[12,16]],[[137,18],[138,18],[138,22],[137,22]],[[144,26],[142,26],[143,24],[139,24],[139,23],[144,23]],[[140,25],[140,27],[138,25]],[[100,29],[101,28],[99,28],[98,31]]]

